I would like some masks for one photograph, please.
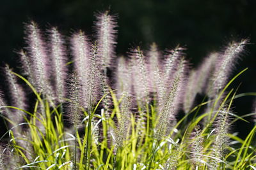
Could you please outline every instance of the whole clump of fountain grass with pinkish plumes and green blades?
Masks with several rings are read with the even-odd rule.
[[[3,69],[1,169],[256,169],[256,127],[245,139],[232,132],[255,115],[231,110],[244,96],[230,85],[246,69],[230,75],[248,39],[191,69],[180,45],[116,57],[116,27],[109,11],[97,14],[95,39],[26,24],[21,74]]]

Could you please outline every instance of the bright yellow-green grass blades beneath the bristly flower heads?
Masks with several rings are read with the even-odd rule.
[[[123,144],[116,145],[117,139],[109,138],[108,135],[115,136],[113,131],[118,131],[118,128],[120,131],[118,124],[125,121],[122,118],[124,116],[122,111],[125,109],[127,111],[127,108],[122,108],[124,104],[120,104],[122,100],[129,102],[127,97],[121,97],[118,100],[115,90],[111,91],[114,107],[111,115],[106,117],[104,110],[100,114],[97,111],[100,102],[107,95],[105,94],[90,113],[84,111],[83,125],[78,125],[75,132],[68,132],[63,121],[66,113],[63,113],[62,105],[51,106],[52,102],[38,94],[28,80],[19,74],[13,74],[24,80],[37,97],[33,113],[13,106],[4,107],[26,113],[24,117],[26,123],[17,125],[28,125],[29,133],[25,138],[13,136],[13,129],[17,126],[8,131],[9,144],[13,148],[12,154],[15,155],[13,159],[19,160],[16,160],[17,169],[212,169],[212,167],[214,169],[249,169],[256,166],[256,146],[253,141],[256,126],[249,132],[246,139],[240,139],[236,134],[229,134],[228,131],[221,131],[224,133],[221,135],[228,138],[228,145],[216,147],[218,143],[215,143],[221,140],[216,129],[232,125],[238,119],[244,120],[238,116],[233,122],[225,120],[227,117],[234,117],[234,114],[229,111],[234,99],[243,96],[230,90],[223,97],[223,92],[237,76],[228,83],[214,101],[212,107],[219,102],[221,96],[224,98],[217,111],[212,109],[204,113],[202,106],[209,102],[201,103],[181,118],[169,133],[162,135],[162,132],[157,132],[161,137],[156,137],[154,132],[159,121],[156,101],[146,106],[143,119],[145,129],[138,126],[136,114],[130,113],[129,117],[125,116],[129,118],[130,123],[125,124],[127,133],[122,136]],[[44,109],[40,110],[39,107],[42,106]],[[221,115],[223,108],[227,109],[225,115]],[[141,111],[143,108],[138,110]],[[40,111],[44,111],[45,116]],[[8,118],[6,120],[11,121]],[[38,126],[38,122],[42,127]],[[214,126],[216,122],[220,127]],[[122,129],[124,131],[124,127]],[[28,147],[19,145],[20,141],[26,143]],[[216,152],[221,157],[217,157]],[[77,155],[76,159],[75,155]]]

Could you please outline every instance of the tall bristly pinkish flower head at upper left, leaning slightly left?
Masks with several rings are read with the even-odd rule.
[[[36,90],[50,96],[51,87],[48,82],[49,67],[47,66],[49,59],[45,52],[45,43],[42,39],[42,33],[35,22],[26,25],[26,36],[28,43],[26,49],[28,50],[29,62],[31,62],[30,66]],[[26,61],[24,60],[24,62]]]

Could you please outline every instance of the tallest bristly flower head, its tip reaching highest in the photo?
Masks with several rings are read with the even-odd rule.
[[[97,14],[97,40],[99,42],[99,52],[102,57],[102,66],[109,67],[111,59],[115,57],[116,46],[116,18],[109,15],[109,11]]]

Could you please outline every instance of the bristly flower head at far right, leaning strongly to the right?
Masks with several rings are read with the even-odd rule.
[[[214,84],[213,91],[209,93],[210,97],[214,97],[221,89],[223,89],[228,81],[228,77],[232,73],[237,60],[242,52],[244,52],[244,46],[248,43],[248,39],[242,39],[241,41],[232,41],[228,44],[225,51],[221,54],[218,60],[212,83]]]

